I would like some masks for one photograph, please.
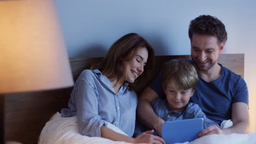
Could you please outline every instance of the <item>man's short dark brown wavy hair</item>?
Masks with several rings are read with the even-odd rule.
[[[191,20],[188,33],[190,42],[192,42],[193,34],[213,35],[217,37],[219,44],[228,39],[228,34],[222,21],[211,15],[200,15]]]

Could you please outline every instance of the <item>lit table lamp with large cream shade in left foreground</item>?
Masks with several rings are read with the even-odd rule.
[[[0,143],[4,94],[73,86],[54,0],[0,1]]]

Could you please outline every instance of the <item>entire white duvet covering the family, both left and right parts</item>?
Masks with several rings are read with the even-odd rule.
[[[226,124],[227,125],[227,124]],[[124,134],[119,128],[112,124],[106,127]],[[57,112],[49,122],[45,124],[39,140],[39,144],[129,144],[128,142],[112,141],[102,137],[88,137],[78,133],[77,117],[62,118]],[[229,135],[207,135],[200,137],[192,142],[184,142],[184,144],[256,144],[256,133],[250,134],[229,134]]]

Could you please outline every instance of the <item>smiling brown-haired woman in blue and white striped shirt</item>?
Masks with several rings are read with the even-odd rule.
[[[130,137],[135,129],[137,107],[137,95],[132,88],[147,75],[153,58],[154,51],[146,40],[136,33],[124,35],[100,63],[80,74],[68,109],[61,110],[62,117],[77,116],[82,135],[131,143],[164,143],[161,137],[150,134],[153,130],[136,139]],[[107,128],[109,123],[128,136]]]

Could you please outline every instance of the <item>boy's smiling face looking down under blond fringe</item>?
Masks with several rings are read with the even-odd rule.
[[[162,86],[167,98],[167,104],[173,111],[182,111],[188,104],[190,97],[192,97],[194,91],[192,89],[179,89],[178,85],[170,80],[166,83],[166,86]]]

